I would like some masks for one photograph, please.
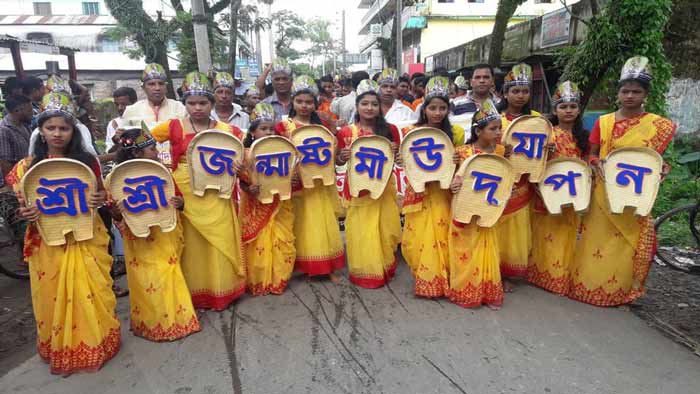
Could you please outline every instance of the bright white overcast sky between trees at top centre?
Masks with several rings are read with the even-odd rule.
[[[305,20],[314,17],[322,17],[331,20],[331,34],[337,39],[341,36],[341,12],[345,9],[345,47],[349,53],[359,51],[360,37],[357,32],[360,29],[362,17],[366,9],[358,9],[360,0],[275,0],[272,4],[272,12],[279,10],[291,10],[299,14]],[[261,7],[264,9],[264,6]],[[263,36],[263,62],[269,62],[270,52],[267,45],[267,36]],[[299,46],[298,49],[303,49]]]

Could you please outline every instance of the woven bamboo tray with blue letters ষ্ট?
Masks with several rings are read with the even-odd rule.
[[[292,143],[299,157],[299,177],[304,188],[314,187],[316,179],[324,186],[335,184],[335,136],[318,125],[299,127],[292,132]]]

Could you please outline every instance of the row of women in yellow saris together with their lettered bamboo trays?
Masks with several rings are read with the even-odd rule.
[[[416,297],[463,308],[497,310],[526,284],[598,307],[644,294],[649,204],[675,133],[644,110],[646,58],[625,63],[619,109],[590,133],[572,81],[558,82],[549,114],[531,109],[527,64],[500,91],[487,65],[469,79],[419,77],[412,106],[396,70],[363,74],[334,99],[332,78],[276,59],[246,97],[262,98],[265,78],[273,93],[240,129],[227,119],[241,107],[219,111],[231,75],[187,74],[178,102],[149,64],[149,99],[125,108],[108,157],[86,147],[54,81],[29,156],[5,174],[30,223],[24,256],[50,371],[96,371],[119,351],[111,238],[123,244],[131,333],[151,341],[206,330],[197,310],[279,295],[298,277],[381,288],[403,261]],[[451,121],[458,108],[471,108],[466,127]]]

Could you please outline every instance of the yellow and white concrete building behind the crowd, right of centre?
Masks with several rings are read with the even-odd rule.
[[[568,0],[573,4],[577,0]],[[528,0],[518,7],[510,24],[516,24],[559,9],[559,0]],[[363,53],[379,48],[379,38],[394,34],[396,0],[361,0],[367,9],[359,29],[366,37]],[[418,71],[426,57],[475,38],[491,34],[498,0],[417,0],[404,7],[400,20],[403,37],[403,71]]]

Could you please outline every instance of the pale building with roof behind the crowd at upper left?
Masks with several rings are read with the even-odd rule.
[[[0,34],[23,40],[47,42],[77,49],[78,78],[92,90],[93,97],[109,97],[119,86],[140,86],[143,59],[131,59],[124,50],[135,44],[110,39],[104,31],[116,26],[103,0],[2,0]],[[175,11],[169,0],[144,0],[144,9],[154,18],[161,13],[171,18]],[[189,1],[183,1],[189,9]],[[65,56],[22,51],[22,63],[28,75],[45,74],[46,62],[57,61],[62,74],[68,64]],[[174,48],[173,48],[174,49]],[[170,60],[171,69],[177,62]],[[9,51],[0,50],[0,79],[14,75]],[[140,92],[140,89],[137,89]]]

